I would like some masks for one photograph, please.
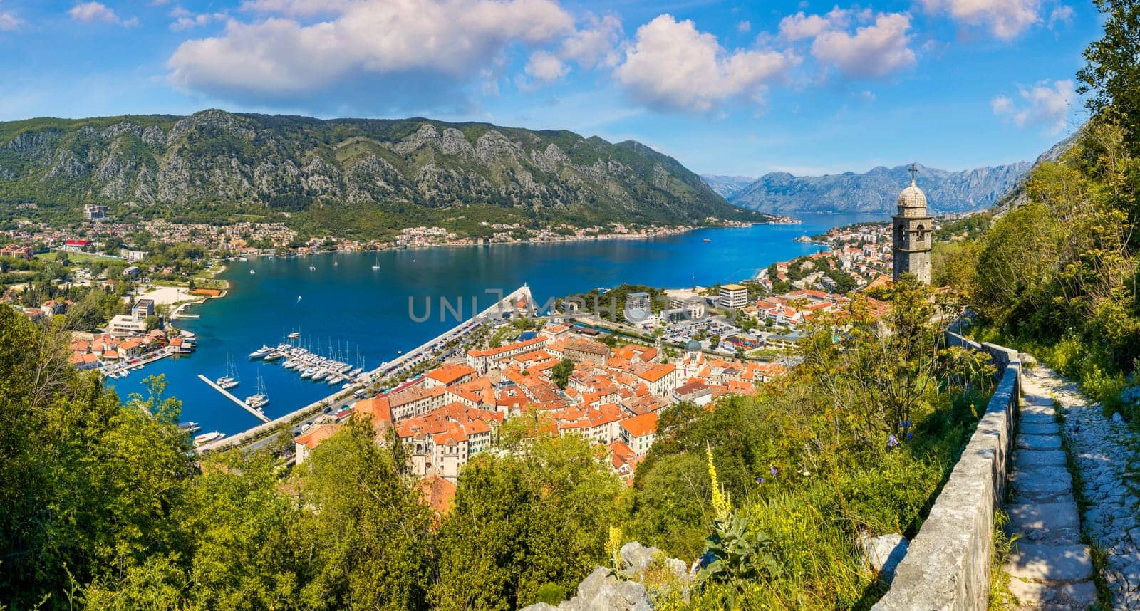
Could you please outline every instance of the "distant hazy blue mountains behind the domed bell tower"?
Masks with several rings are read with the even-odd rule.
[[[950,172],[915,164],[915,181],[926,192],[933,212],[967,212],[994,205],[1032,168],[1017,162]],[[797,177],[764,174],[746,185],[741,177],[703,176],[730,203],[748,210],[789,212],[893,212],[898,192],[910,184],[910,165],[878,166],[857,174],[845,172]]]

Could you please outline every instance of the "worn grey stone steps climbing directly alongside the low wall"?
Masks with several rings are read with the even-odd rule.
[[[1053,399],[1032,376],[1021,378],[1012,502],[1005,505],[1013,544],[1005,571],[1018,609],[1086,609],[1097,600],[1089,547],[1081,543],[1081,518],[1073,476],[1061,449]]]

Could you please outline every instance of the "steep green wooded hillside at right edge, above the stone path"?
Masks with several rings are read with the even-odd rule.
[[[980,236],[939,246],[936,279],[964,293],[976,333],[1037,355],[1106,413],[1140,421],[1140,5],[1098,7],[1105,36],[1078,73],[1092,117]]]

